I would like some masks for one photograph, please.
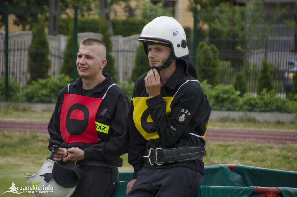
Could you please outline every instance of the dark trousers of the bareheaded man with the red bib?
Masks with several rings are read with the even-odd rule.
[[[71,197],[109,197],[116,189],[119,178],[118,168],[81,166],[83,176]]]

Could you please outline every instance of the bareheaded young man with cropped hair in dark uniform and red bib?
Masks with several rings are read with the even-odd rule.
[[[54,160],[74,162],[83,171],[72,196],[110,196],[118,180],[119,158],[127,152],[129,99],[102,73],[105,44],[88,38],[76,60],[80,78],[59,92],[48,124],[49,146],[59,146]]]

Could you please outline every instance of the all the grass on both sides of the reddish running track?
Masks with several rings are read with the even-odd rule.
[[[0,118],[48,120],[50,110],[34,110],[28,107],[11,105],[0,108]],[[228,120],[221,118],[210,122],[211,127],[277,129],[297,132],[297,121],[261,122],[249,117]],[[50,156],[48,134],[34,132],[6,132],[0,126],[0,196],[17,197],[32,194],[5,193],[11,184],[27,186],[24,173],[37,173],[43,162]],[[241,142],[206,142],[206,166],[218,164],[242,164],[261,168],[297,171],[297,144],[255,143],[250,140]],[[123,167],[119,171],[132,171],[127,154],[121,156]]]

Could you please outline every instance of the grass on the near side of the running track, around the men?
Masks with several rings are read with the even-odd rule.
[[[11,184],[27,186],[24,173],[37,173],[50,156],[48,135],[34,132],[0,131],[0,194],[17,197],[20,194],[5,193]],[[242,164],[261,168],[297,171],[297,144],[277,145],[268,143],[207,142],[205,165]],[[127,154],[122,155],[123,167],[119,171],[132,171]],[[3,194],[3,195],[2,195]],[[32,196],[32,194],[21,194]]]

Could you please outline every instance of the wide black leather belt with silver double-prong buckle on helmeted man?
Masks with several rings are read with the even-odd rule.
[[[147,162],[150,165],[163,165],[183,161],[195,160],[206,155],[205,147],[184,146],[178,148],[151,148],[147,150]]]

